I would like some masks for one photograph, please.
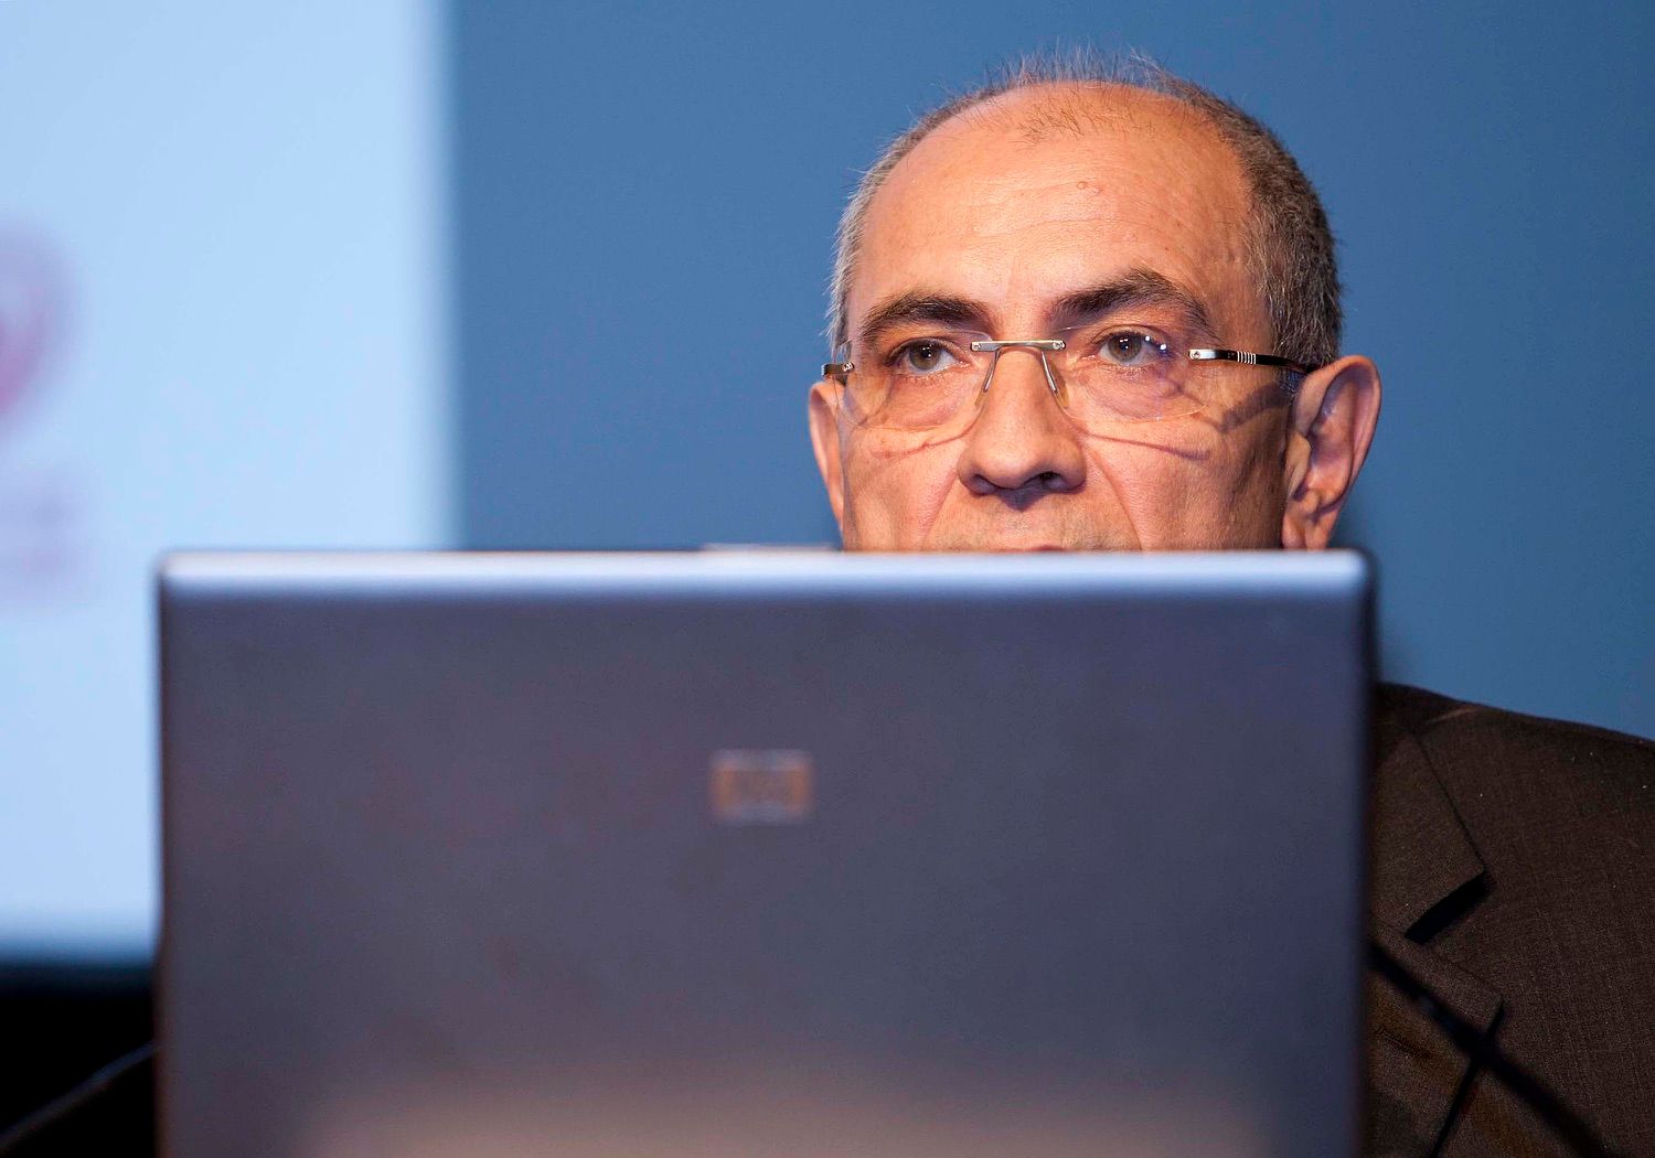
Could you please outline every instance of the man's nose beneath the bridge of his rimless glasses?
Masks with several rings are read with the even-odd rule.
[[[1079,490],[1086,478],[1079,433],[1058,405],[1041,357],[1016,346],[998,352],[960,452],[960,481],[973,495],[1031,500]]]

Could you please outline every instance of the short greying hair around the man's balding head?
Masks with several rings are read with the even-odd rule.
[[[839,218],[834,246],[828,288],[831,356],[849,344],[846,296],[862,251],[869,205],[890,170],[943,121],[1006,93],[1049,86],[1144,89],[1170,96],[1203,117],[1235,152],[1253,194],[1248,263],[1269,309],[1274,352],[1312,367],[1339,356],[1342,311],[1334,238],[1322,202],[1293,154],[1253,116],[1147,56],[1115,60],[1084,50],[1015,61],[986,84],[922,116],[862,174]]]

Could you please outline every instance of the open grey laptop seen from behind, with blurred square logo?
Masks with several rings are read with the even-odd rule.
[[[180,554],[164,1153],[1354,1155],[1359,554]]]

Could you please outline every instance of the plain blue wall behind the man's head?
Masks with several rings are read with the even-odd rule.
[[[1655,18],[1552,3],[460,3],[460,538],[824,541],[804,390],[856,172],[1056,43],[1299,156],[1385,415],[1392,678],[1655,735]]]

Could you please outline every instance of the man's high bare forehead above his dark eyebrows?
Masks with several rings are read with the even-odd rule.
[[[975,298],[1006,318],[1149,268],[1254,331],[1251,205],[1233,152],[1193,111],[1139,89],[1033,89],[938,126],[887,175],[847,294],[856,321],[900,293]],[[1238,336],[1240,337],[1240,336]]]

